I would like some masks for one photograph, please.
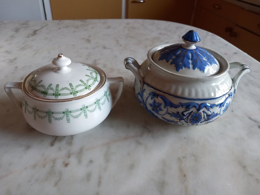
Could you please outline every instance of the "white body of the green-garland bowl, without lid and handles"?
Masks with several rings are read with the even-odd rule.
[[[99,125],[112,109],[105,84],[95,93],[73,101],[40,101],[23,94],[22,112],[34,129],[49,135],[75,135]]]

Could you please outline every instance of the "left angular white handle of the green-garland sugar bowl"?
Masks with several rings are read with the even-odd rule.
[[[13,101],[13,103],[19,108],[19,110],[21,112],[22,112],[22,101],[16,98],[16,96],[12,92],[12,88],[20,89],[21,91],[23,91],[22,83],[23,82],[7,82],[7,83],[5,83],[5,86],[4,86],[5,92],[7,93],[9,98]]]

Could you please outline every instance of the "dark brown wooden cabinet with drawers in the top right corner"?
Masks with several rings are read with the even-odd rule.
[[[222,0],[198,0],[193,26],[210,31],[260,61],[260,15]]]

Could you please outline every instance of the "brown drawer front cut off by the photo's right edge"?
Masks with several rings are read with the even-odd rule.
[[[237,16],[237,25],[260,36],[260,15],[258,14],[241,9]]]

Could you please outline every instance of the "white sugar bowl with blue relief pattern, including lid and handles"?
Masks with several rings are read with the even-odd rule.
[[[135,75],[135,95],[148,113],[175,125],[204,125],[226,112],[239,79],[250,70],[198,47],[200,37],[194,30],[182,40],[152,48],[141,65],[131,57],[124,64]],[[233,78],[230,68],[238,69]]]

